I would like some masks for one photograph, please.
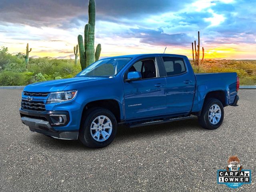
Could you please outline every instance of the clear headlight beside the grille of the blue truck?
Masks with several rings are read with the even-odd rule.
[[[62,91],[50,93],[46,104],[70,101],[76,96],[77,91]]]

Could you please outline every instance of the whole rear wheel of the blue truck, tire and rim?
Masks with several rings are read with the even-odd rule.
[[[224,118],[224,107],[220,100],[208,98],[204,103],[201,116],[198,116],[200,126],[206,129],[218,128]]]

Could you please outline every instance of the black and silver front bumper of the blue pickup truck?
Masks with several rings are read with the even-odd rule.
[[[55,130],[54,127],[65,126],[69,122],[69,114],[66,111],[30,112],[20,109],[21,121],[33,132],[58,139],[77,140],[78,130]],[[62,124],[56,122],[56,117],[62,116]],[[66,119],[65,119],[66,118]]]

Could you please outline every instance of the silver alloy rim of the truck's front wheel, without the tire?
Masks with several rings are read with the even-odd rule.
[[[104,115],[96,117],[90,127],[91,136],[98,142],[106,141],[112,132],[112,122]]]

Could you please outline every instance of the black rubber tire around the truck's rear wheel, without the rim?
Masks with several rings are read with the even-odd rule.
[[[221,110],[220,121],[217,124],[212,124],[208,116],[210,107],[213,106],[214,104],[218,105]],[[220,100],[215,98],[208,98],[205,101],[204,106],[202,108],[201,116],[198,116],[198,122],[200,126],[202,126],[203,128],[213,130],[213,129],[217,129],[222,124],[223,118],[224,118],[224,107],[220,102]]]

